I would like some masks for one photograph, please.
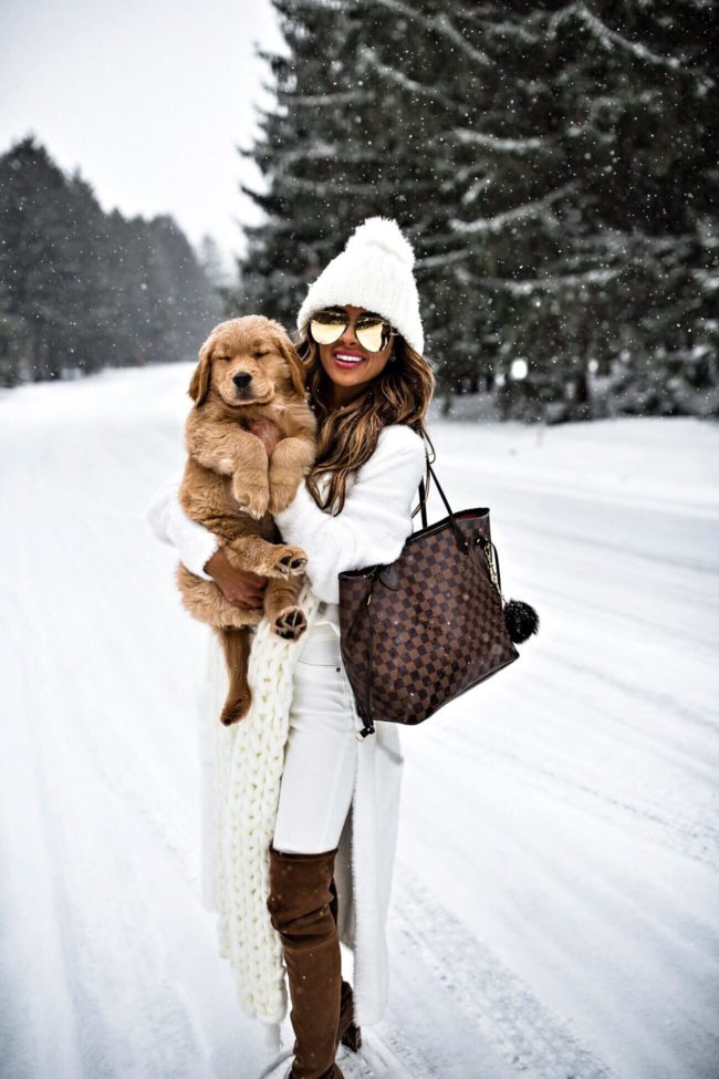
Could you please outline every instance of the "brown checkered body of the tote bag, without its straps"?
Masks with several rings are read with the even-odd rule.
[[[519,657],[501,596],[478,542],[490,540],[489,510],[450,518],[407,539],[392,563],[340,573],[342,657],[362,718],[417,724]],[[367,599],[369,598],[369,602]]]

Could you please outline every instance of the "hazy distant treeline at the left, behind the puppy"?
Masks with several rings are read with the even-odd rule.
[[[194,359],[221,314],[173,218],[105,215],[32,136],[0,156],[0,380]]]

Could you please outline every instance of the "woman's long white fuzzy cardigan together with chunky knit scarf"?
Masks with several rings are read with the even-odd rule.
[[[375,453],[347,484],[342,513],[332,517],[321,510],[301,484],[292,505],[277,515],[283,540],[308,554],[300,603],[309,627],[325,606],[331,612],[337,603],[340,572],[392,562],[399,556],[413,531],[411,507],[425,456],[419,435],[405,425],[390,425],[381,432]],[[177,486],[174,481],[158,492],[148,520],[155,535],[176,548],[188,569],[207,577],[205,564],[217,542],[184,513]],[[267,907],[269,845],[301,641],[283,641],[270,632],[267,620],[260,622],[248,668],[252,706],[242,723],[226,728],[217,715],[227,675],[210,634],[200,704],[205,902],[218,911],[219,946],[235,968],[240,1005],[270,1026],[268,1041],[275,1046],[288,998],[281,942]],[[353,701],[351,693],[350,698]],[[355,723],[362,726],[356,710]],[[354,951],[358,1025],[376,1023],[387,997],[384,925],[402,760],[396,724],[379,722],[375,735],[357,743],[352,810],[335,859],[338,931],[343,943]]]

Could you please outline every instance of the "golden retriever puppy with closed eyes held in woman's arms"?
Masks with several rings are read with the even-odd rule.
[[[225,653],[229,692],[220,719],[247,715],[251,694],[247,662],[251,631],[264,614],[272,632],[296,640],[306,630],[296,604],[306,557],[281,542],[272,513],[286,509],[316,454],[316,419],[304,386],[304,367],[279,322],[260,315],[215,326],[199,352],[185,425],[187,463],[179,499],[192,520],[209,528],[231,564],[268,577],[264,609],[235,606],[215,581],[180,563],[183,603],[211,625]],[[280,440],[268,459],[252,433],[274,424]],[[259,426],[258,426],[259,429]]]

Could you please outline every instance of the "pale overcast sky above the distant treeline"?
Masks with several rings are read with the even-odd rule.
[[[229,264],[257,220],[236,146],[271,101],[254,41],[282,49],[270,0],[1,0],[0,153],[34,133],[105,210],[171,214]]]

